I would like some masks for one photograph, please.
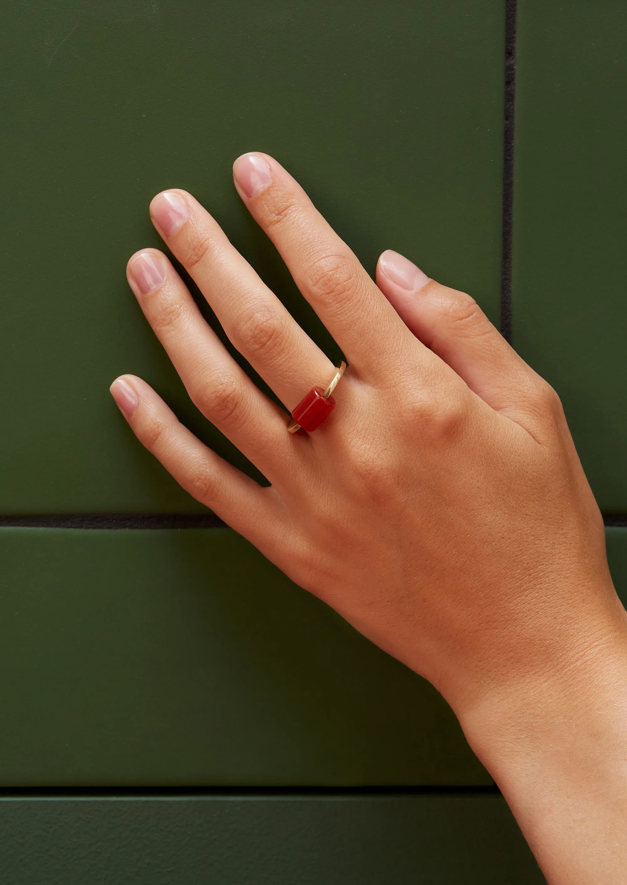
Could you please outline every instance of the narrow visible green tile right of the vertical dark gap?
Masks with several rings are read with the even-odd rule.
[[[514,346],[562,396],[601,509],[627,511],[627,6],[518,6]]]

